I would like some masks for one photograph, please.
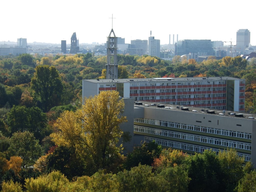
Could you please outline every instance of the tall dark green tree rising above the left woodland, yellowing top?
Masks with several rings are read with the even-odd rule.
[[[34,91],[35,97],[40,101],[44,112],[58,105],[63,89],[59,72],[53,66],[37,66],[36,72],[31,79],[31,89]]]

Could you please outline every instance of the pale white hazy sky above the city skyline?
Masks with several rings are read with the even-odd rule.
[[[125,43],[134,39],[211,39],[236,44],[236,31],[249,29],[256,45],[255,0],[215,1],[1,1],[0,41],[59,43],[76,32],[79,43],[103,43],[112,28]],[[226,43],[230,44],[229,42]]]

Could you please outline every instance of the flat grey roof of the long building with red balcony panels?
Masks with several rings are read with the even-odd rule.
[[[180,77],[180,78],[145,78],[145,79],[84,79],[84,81],[89,81],[93,83],[105,83],[105,82],[133,82],[133,81],[201,81],[201,80],[238,80],[238,78],[233,77]]]

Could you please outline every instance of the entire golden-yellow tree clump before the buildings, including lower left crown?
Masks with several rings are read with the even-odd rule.
[[[121,157],[122,146],[117,143],[122,135],[119,125],[126,122],[123,109],[124,101],[117,91],[86,98],[82,109],[61,114],[55,124],[57,130],[50,135],[52,141],[72,148],[91,172],[111,166]]]

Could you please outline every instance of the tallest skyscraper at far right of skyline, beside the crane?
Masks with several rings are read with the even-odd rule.
[[[237,31],[237,46],[236,50],[240,53],[249,47],[251,32],[248,29],[239,29]]]

